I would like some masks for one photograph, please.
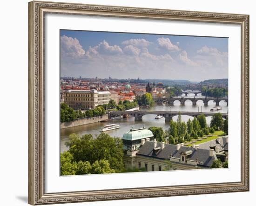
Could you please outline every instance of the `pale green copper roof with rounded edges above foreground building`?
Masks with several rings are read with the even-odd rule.
[[[145,128],[142,129],[131,129],[129,132],[124,133],[122,139],[123,140],[141,140],[145,138],[153,137],[153,133]]]

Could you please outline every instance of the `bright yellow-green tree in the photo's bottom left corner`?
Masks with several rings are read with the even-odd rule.
[[[69,152],[61,153],[61,175],[74,175],[77,164],[73,163],[73,156]]]

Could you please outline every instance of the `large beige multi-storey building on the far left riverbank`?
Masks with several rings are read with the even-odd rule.
[[[96,106],[108,104],[111,100],[109,91],[66,90],[64,102],[75,110],[94,109]]]

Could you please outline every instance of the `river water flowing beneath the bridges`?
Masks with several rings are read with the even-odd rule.
[[[192,95],[188,95],[190,97]],[[198,95],[198,98],[202,97]],[[154,106],[152,106],[149,110],[152,111],[187,111],[187,112],[210,112],[210,109],[215,106],[215,103],[213,101],[209,101],[208,106],[204,106],[202,101],[197,101],[197,105],[193,106],[192,102],[187,100],[185,102],[185,105],[180,105],[178,101],[174,102],[174,105],[170,107],[168,104],[157,104],[155,103]],[[215,111],[212,113],[227,113],[228,112],[228,106],[227,103],[224,101],[220,102],[220,106],[222,107],[222,110]],[[178,116],[173,117],[173,120],[177,120]],[[189,119],[193,119],[193,117],[182,115],[182,121],[188,121]],[[211,117],[206,117],[207,124],[210,124]],[[126,132],[128,132],[131,127],[133,128],[142,128],[143,125],[146,126],[146,128],[150,126],[162,126],[164,130],[168,130],[169,123],[165,122],[164,118],[161,119],[155,119],[155,114],[147,114],[142,117],[142,120],[135,121],[134,117],[124,118],[121,120],[109,120],[108,122],[97,122],[89,125],[82,125],[82,126],[75,126],[70,127],[66,129],[61,129],[61,153],[66,151],[68,148],[65,146],[65,142],[68,140],[68,136],[71,133],[77,133],[79,135],[83,134],[100,134],[100,129],[102,126],[109,125],[109,124],[119,124],[120,129],[116,130],[110,130],[106,133],[108,133],[112,137],[122,137],[122,135]]]

